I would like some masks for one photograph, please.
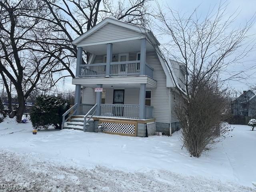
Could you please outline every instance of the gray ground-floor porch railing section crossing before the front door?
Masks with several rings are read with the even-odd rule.
[[[139,106],[122,104],[100,104],[100,116],[138,119]]]

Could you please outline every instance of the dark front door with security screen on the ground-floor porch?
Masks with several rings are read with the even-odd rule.
[[[114,90],[113,104],[119,104],[113,107],[114,116],[122,117],[124,115],[124,90]]]

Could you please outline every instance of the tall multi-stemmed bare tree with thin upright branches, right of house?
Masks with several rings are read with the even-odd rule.
[[[243,78],[242,72],[250,70],[232,72],[228,68],[241,62],[254,48],[254,41],[248,40],[248,30],[254,24],[255,16],[243,27],[232,28],[238,15],[235,12],[227,17],[227,6],[226,2],[220,2],[218,6],[209,8],[203,17],[198,14],[198,8],[186,15],[158,4],[156,26],[164,37],[170,39],[164,45],[164,54],[185,66],[183,84],[187,96],[181,97],[177,115],[183,128],[184,145],[191,155],[197,157],[214,139],[212,129],[221,120],[223,108],[216,105],[223,104],[221,83],[239,80]],[[162,58],[168,62],[164,54]],[[181,89],[179,91],[184,95]]]

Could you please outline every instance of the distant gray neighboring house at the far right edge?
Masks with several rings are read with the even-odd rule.
[[[251,90],[244,91],[231,103],[231,110],[234,116],[256,117],[256,95]]]

